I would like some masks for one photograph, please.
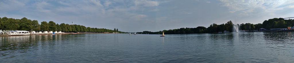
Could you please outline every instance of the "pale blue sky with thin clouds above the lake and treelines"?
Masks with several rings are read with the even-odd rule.
[[[54,21],[123,32],[208,27],[232,20],[294,17],[294,0],[1,0],[0,17]],[[237,21],[236,21],[237,18]]]

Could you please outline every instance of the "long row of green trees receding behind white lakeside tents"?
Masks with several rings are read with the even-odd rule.
[[[82,25],[70,24],[56,24],[54,21],[42,21],[41,24],[37,20],[30,20],[27,18],[13,19],[7,17],[0,17],[1,30],[26,30],[26,31],[62,31],[62,32],[94,32],[94,33],[124,33],[118,29],[109,30],[104,28],[90,28]]]

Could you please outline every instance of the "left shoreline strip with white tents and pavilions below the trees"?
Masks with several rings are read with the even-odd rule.
[[[29,35],[51,35],[52,33],[30,33]],[[55,35],[63,35],[63,34],[73,34],[73,33],[55,33]],[[99,33],[76,33],[76,34],[99,34]],[[101,33],[101,34],[110,34],[110,33]],[[112,34],[112,33],[111,33]],[[113,33],[116,34],[116,33]],[[4,36],[27,36],[27,35],[8,35],[8,34],[3,34],[0,35],[0,37],[4,37]]]

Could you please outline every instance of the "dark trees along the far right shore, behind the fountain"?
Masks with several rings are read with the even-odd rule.
[[[225,24],[211,24],[208,28],[203,26],[198,26],[196,28],[180,28],[173,30],[163,30],[158,32],[143,31],[137,32],[139,34],[197,34],[197,33],[218,33],[218,32],[233,32],[232,21],[228,21]],[[283,18],[273,18],[263,21],[262,24],[236,24],[240,26],[240,30],[258,30],[260,28],[273,29],[273,28],[287,28],[294,26],[293,19],[283,19]]]

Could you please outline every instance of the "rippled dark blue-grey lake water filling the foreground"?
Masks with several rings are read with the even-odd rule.
[[[294,32],[0,37],[0,62],[294,62]]]

